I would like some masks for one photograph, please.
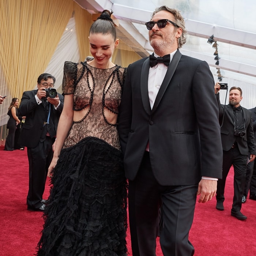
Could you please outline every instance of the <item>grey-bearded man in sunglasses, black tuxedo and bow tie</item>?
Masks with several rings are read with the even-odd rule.
[[[178,50],[187,32],[180,12],[159,7],[146,26],[154,55],[129,65],[118,125],[132,255],[155,255],[162,205],[163,255],[191,256],[196,195],[211,200],[222,177],[214,79],[205,61]]]

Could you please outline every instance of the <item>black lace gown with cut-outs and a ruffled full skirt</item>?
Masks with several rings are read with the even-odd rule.
[[[66,62],[63,93],[74,94],[74,120],[54,168],[41,256],[127,255],[127,181],[116,124],[125,69]]]

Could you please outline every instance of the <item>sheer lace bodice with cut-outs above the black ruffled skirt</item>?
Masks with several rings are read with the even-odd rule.
[[[65,62],[63,93],[74,94],[74,123],[64,148],[92,136],[120,149],[116,128],[125,68]]]

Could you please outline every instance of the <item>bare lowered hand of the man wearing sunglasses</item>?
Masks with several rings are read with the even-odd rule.
[[[196,195],[200,195],[198,202],[206,203],[216,195],[217,180],[200,180]]]

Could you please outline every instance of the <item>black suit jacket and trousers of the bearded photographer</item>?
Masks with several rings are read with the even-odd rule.
[[[223,124],[221,127],[221,141],[223,149],[223,165],[222,165],[222,179],[218,180],[217,185],[217,202],[224,202],[224,189],[226,177],[229,169],[233,164],[234,167],[234,197],[233,197],[233,212],[240,211],[242,206],[242,196],[245,184],[246,163],[248,157],[255,155],[255,138],[252,124],[252,112],[246,108],[241,107],[241,126],[240,132],[245,132],[245,136],[236,136],[234,134],[234,107],[230,104],[222,105],[219,101],[219,93],[216,95],[219,106],[219,121]],[[225,110],[224,110],[225,107]],[[240,108],[238,107],[238,108]],[[224,112],[225,111],[225,112]],[[241,133],[240,133],[241,134]]]

